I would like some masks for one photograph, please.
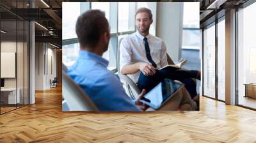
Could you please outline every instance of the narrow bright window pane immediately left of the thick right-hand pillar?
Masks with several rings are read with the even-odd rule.
[[[225,101],[225,20],[218,23],[218,99]]]

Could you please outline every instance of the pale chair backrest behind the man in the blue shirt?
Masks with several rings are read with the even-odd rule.
[[[68,77],[66,73],[67,67],[62,64],[62,68],[62,96],[67,102],[70,111],[97,111],[97,107],[89,96],[84,93],[76,82]]]

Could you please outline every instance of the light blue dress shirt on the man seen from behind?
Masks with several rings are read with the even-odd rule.
[[[88,94],[100,111],[139,111],[127,96],[117,75],[107,69],[108,61],[88,51],[79,51],[67,74]]]

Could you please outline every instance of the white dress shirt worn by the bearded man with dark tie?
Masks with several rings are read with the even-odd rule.
[[[157,68],[161,68],[168,64],[166,56],[166,45],[160,38],[148,34],[148,45],[150,49],[150,55],[153,61],[156,63]],[[147,62],[151,64],[146,56],[145,44],[142,36],[138,31],[126,36],[120,43],[120,70],[127,64],[134,64],[138,62]],[[140,77],[140,71],[132,75],[128,75],[135,83],[138,82]]]

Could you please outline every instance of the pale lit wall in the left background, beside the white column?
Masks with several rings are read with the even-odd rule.
[[[51,87],[50,79],[56,77],[56,49],[49,43],[35,43],[35,90]]]

